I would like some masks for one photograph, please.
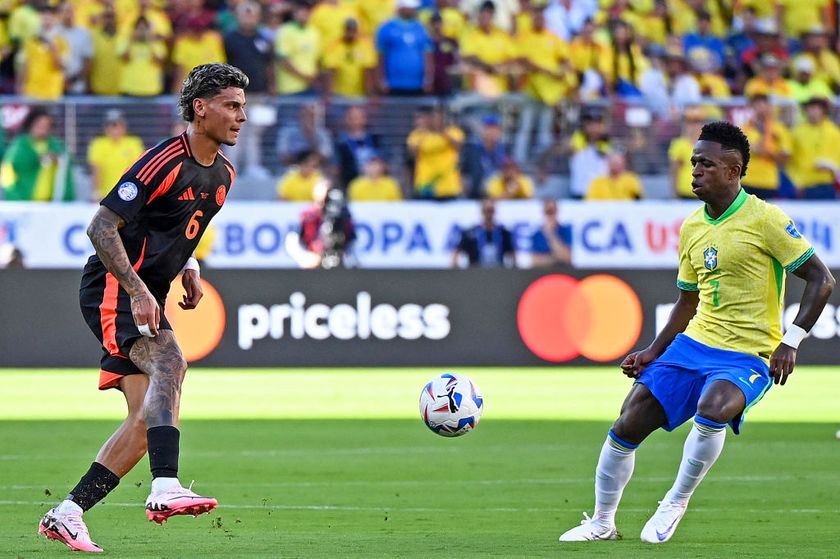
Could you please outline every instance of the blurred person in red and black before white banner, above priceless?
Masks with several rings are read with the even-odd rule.
[[[356,232],[344,193],[323,180],[313,199],[312,207],[301,213],[299,232],[286,236],[286,251],[305,269],[353,267]]]

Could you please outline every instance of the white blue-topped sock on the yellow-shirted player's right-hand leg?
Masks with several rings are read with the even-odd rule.
[[[698,422],[699,419],[699,422]],[[665,498],[688,504],[694,490],[715,463],[726,440],[726,425],[695,416],[694,427],[685,439],[680,470]]]

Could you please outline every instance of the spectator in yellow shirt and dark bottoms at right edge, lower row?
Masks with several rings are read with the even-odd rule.
[[[840,176],[840,128],[828,118],[830,102],[813,97],[804,103],[806,121],[793,129],[790,175],[802,198],[834,200]]]

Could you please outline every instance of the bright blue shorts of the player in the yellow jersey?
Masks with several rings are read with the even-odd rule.
[[[758,357],[717,349],[694,341],[685,334],[677,337],[636,379],[662,404],[673,431],[697,413],[697,402],[716,380],[728,380],[741,389],[747,405],[730,425],[737,435],[744,415],[773,386],[770,368]]]

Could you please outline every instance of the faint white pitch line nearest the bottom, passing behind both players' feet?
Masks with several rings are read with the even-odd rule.
[[[0,501],[0,506],[49,506],[48,503],[42,501]],[[140,503],[100,503],[98,506],[102,507],[120,507],[120,508],[142,508]],[[372,512],[372,513],[393,513],[393,512],[422,512],[422,513],[452,513],[451,508],[435,508],[435,507],[356,507],[345,505],[219,505],[219,510],[289,510],[289,511],[334,511],[334,512]],[[556,512],[580,512],[579,507],[574,508],[516,508],[516,507],[481,507],[476,509],[465,509],[459,507],[460,512],[473,510],[475,512],[501,512],[501,513],[556,513]],[[650,512],[650,508],[623,508],[624,512]],[[695,513],[711,513],[720,514],[720,509],[712,508],[693,508]],[[838,509],[738,509],[744,514],[838,514]]]

